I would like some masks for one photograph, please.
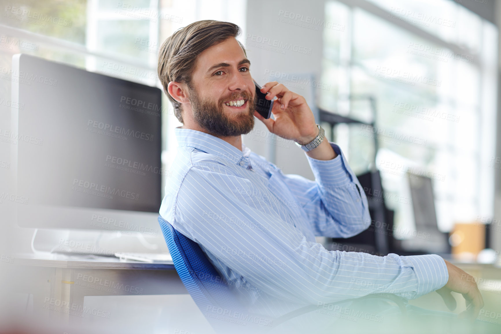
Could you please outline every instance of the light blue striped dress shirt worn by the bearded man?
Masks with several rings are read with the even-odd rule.
[[[175,134],[178,153],[160,215],[200,245],[254,311],[278,316],[371,293],[413,299],[447,282],[438,255],[328,251],[315,241],[351,237],[371,223],[367,198],[335,143],[334,159],[306,155],[311,181],[284,175],[244,144],[240,151],[180,127]]]

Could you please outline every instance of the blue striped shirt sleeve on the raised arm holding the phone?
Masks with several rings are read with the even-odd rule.
[[[287,174],[285,183],[302,204],[316,236],[349,238],[371,224],[367,197],[339,146],[329,143],[338,154],[335,158],[306,155],[315,181]]]

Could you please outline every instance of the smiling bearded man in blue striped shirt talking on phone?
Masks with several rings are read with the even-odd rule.
[[[197,242],[258,313],[280,316],[374,293],[413,299],[436,290],[451,309],[450,292],[462,293],[469,305],[463,315],[475,318],[483,306],[476,284],[463,284],[471,276],[438,255],[380,257],[328,251],[315,242],[315,236],[346,238],[368,228],[367,199],[302,96],[269,82],[261,91],[276,98],[275,119],[255,111],[250,61],[238,34],[232,23],[198,21],[161,46],[158,75],[183,126],[175,129],[178,154],[160,215]],[[303,148],[315,181],[284,175],[245,147],[241,135],[253,129],[254,116]],[[335,320],[310,312],[291,321],[320,330]]]

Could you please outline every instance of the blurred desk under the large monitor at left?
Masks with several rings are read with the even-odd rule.
[[[15,290],[34,314],[77,324],[88,312],[85,296],[187,294],[172,262],[144,263],[111,257],[21,255]],[[96,314],[94,314],[96,315]]]

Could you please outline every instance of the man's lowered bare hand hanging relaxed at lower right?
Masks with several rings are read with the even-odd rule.
[[[458,317],[469,318],[471,320],[476,319],[478,312],[483,307],[483,298],[473,276],[467,274],[449,261],[445,261],[445,264],[449,272],[449,280],[443,287],[436,290],[436,292],[443,298],[445,305],[451,311],[456,309],[456,300],[452,296],[451,291],[461,293],[466,300],[466,310],[459,313]]]

